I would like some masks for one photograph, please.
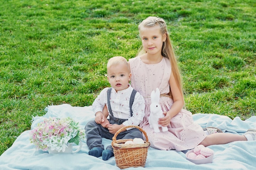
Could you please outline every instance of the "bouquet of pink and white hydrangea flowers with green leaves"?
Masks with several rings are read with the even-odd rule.
[[[85,130],[70,117],[45,118],[29,133],[31,143],[37,150],[43,151],[51,149],[64,152],[69,144],[74,142],[78,145],[80,140],[85,139]]]

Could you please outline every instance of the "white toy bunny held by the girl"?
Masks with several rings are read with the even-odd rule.
[[[150,115],[148,117],[148,123],[150,128],[154,128],[154,132],[160,132],[159,127],[162,127],[163,132],[168,131],[166,126],[158,124],[159,118],[164,117],[163,111],[159,104],[160,91],[157,88],[156,91],[151,92],[151,104],[150,104]]]

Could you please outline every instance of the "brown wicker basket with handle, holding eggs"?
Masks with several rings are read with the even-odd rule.
[[[116,140],[117,135],[126,128],[137,128],[143,132],[146,137],[144,144],[124,144],[126,141],[132,141],[132,139]],[[145,166],[150,143],[148,142],[146,132],[142,128],[134,125],[125,126],[119,129],[112,139],[112,147],[114,149],[116,164],[120,169]]]

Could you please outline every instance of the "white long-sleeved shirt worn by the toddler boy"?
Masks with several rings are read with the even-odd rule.
[[[94,114],[98,111],[102,112],[105,105],[108,107],[108,88],[109,87],[104,88],[92,103],[92,110],[94,111]],[[119,119],[128,119],[123,123],[124,126],[138,126],[145,116],[145,100],[139,93],[136,93],[135,95],[134,102],[132,104],[132,117],[130,116],[130,95],[132,94],[132,90],[133,88],[129,84],[129,87],[122,91],[116,92],[115,89],[112,88],[110,94],[110,105],[113,116]]]

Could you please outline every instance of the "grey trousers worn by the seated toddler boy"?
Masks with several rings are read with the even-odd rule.
[[[108,119],[110,124],[117,124],[115,121]],[[101,148],[104,150],[104,146],[102,144],[102,137],[106,139],[111,139],[114,137],[112,133],[109,132],[108,128],[103,128],[100,124],[97,124],[94,120],[89,121],[85,126],[85,134],[86,134],[86,144],[88,148],[91,150],[94,147]],[[133,128],[130,130],[126,130],[124,132],[120,132],[117,135],[118,139],[134,139],[141,138],[143,139],[142,132]],[[106,149],[109,149],[113,152],[112,146],[107,146]]]

